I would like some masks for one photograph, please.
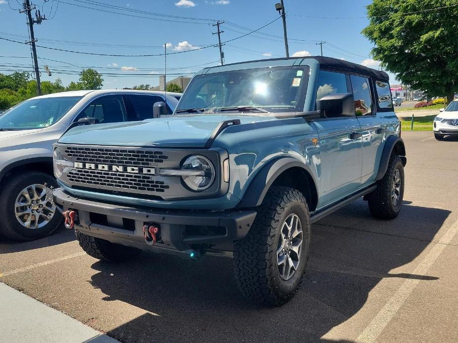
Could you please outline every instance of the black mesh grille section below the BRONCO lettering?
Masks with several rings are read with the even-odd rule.
[[[164,181],[153,180],[151,176],[124,172],[103,172],[96,170],[73,170],[67,175],[71,182],[122,188],[129,190],[165,192],[169,188]]]

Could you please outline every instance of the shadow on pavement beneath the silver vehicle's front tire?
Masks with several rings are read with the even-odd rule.
[[[74,241],[75,239],[75,233],[73,230],[67,230],[63,225],[58,227],[57,230],[51,233],[48,237],[30,242],[12,241],[0,236],[0,254],[17,253],[20,251],[51,247],[53,245]]]

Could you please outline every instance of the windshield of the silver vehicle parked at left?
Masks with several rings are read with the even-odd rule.
[[[0,115],[0,129],[47,128],[61,119],[82,96],[30,99]]]

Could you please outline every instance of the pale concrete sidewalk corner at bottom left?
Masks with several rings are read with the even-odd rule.
[[[0,323],[0,343],[118,342],[3,283]]]

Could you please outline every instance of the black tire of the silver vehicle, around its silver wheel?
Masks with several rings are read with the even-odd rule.
[[[0,234],[16,241],[32,241],[51,234],[62,222],[62,215],[55,211],[48,224],[29,229],[19,223],[14,214],[14,204],[19,193],[32,184],[48,184],[57,187],[55,178],[44,172],[21,172],[3,179],[0,192]]]

